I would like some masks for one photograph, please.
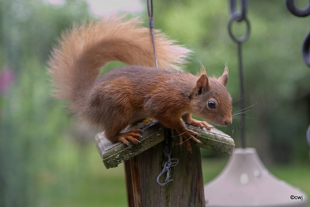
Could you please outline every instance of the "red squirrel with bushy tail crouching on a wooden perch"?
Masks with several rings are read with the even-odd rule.
[[[142,27],[138,18],[114,16],[81,27],[74,25],[62,34],[49,60],[54,96],[68,100],[71,112],[104,130],[112,143],[139,143],[140,129],[121,131],[153,117],[175,129],[180,143],[185,140],[191,150],[188,139],[200,141],[194,136],[198,133],[187,129],[185,123],[207,130],[213,127],[193,119],[192,113],[216,125],[232,123],[227,65],[218,79],[208,77],[204,68],[199,75],[162,69],[179,70],[190,51],[159,31],[155,31],[155,47],[161,69],[155,68],[149,29]],[[98,78],[101,67],[110,61],[128,66]]]

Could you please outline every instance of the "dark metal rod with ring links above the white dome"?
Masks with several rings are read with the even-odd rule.
[[[244,80],[243,80],[243,64],[242,64],[242,43],[248,39],[248,35],[250,32],[250,23],[247,17],[247,9],[248,9],[248,0],[240,0],[241,3],[241,12],[237,11],[236,0],[230,0],[230,11],[231,17],[228,22],[228,32],[238,45],[238,62],[239,62],[239,83],[240,83],[240,96],[241,99],[239,101],[239,107],[241,111],[241,122],[243,125],[240,128],[240,136],[241,136],[241,145],[242,148],[246,148],[246,138],[245,138],[245,93],[244,93]],[[236,37],[232,31],[233,22],[242,22],[246,23],[246,32],[241,37]]]

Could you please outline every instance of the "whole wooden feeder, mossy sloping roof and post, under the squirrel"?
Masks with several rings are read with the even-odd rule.
[[[104,134],[96,136],[98,151],[107,169],[125,162],[129,207],[205,206],[200,147],[232,155],[234,141],[216,128],[204,131],[196,127],[186,127],[198,132],[200,135],[197,139],[202,142],[191,142],[192,153],[187,150],[186,143],[180,146],[174,130],[170,131],[151,119],[124,130],[143,130],[137,145],[110,143]],[[163,169],[165,136],[169,138],[171,158],[179,159],[179,163],[171,168],[173,181],[161,186],[156,179]],[[161,181],[165,180],[165,176],[163,175]]]

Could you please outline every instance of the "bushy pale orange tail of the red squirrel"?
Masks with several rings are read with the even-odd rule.
[[[160,68],[180,69],[189,53],[156,30],[155,47]],[[110,61],[155,67],[149,29],[138,18],[113,16],[64,32],[49,61],[54,96],[69,100],[69,109],[77,112],[101,67]]]

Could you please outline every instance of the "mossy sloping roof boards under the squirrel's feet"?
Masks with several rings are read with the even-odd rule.
[[[202,143],[199,144],[192,142],[192,145],[197,145],[199,147],[224,154],[233,154],[233,139],[217,128],[213,128],[211,131],[205,131],[197,127],[186,127],[200,133],[200,135],[197,136],[197,139],[199,139]],[[141,152],[144,152],[145,150],[164,141],[163,126],[155,120],[143,120],[143,122],[130,128],[128,127],[124,131],[128,131],[133,128],[141,128],[143,130],[142,138],[140,139],[140,143],[137,145],[130,143],[129,146],[126,146],[123,143],[110,143],[107,139],[105,139],[103,133],[96,136],[95,139],[98,151],[107,169],[117,167],[118,164],[139,155]],[[172,138],[179,140],[177,134],[174,134]],[[186,144],[184,143],[184,145]]]

